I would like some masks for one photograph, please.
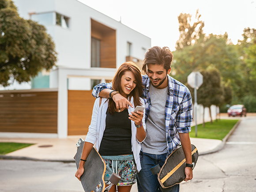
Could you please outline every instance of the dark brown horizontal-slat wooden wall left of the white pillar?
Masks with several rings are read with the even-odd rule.
[[[0,132],[57,133],[55,92],[0,93]]]

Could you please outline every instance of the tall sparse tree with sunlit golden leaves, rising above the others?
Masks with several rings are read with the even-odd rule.
[[[204,36],[204,22],[200,20],[199,10],[196,11],[196,22],[191,24],[192,15],[181,13],[178,16],[180,38],[176,42],[176,49],[183,49],[188,45],[194,45],[199,38]]]

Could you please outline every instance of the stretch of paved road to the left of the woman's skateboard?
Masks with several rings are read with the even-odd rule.
[[[0,160],[0,192],[83,192],[75,163]]]

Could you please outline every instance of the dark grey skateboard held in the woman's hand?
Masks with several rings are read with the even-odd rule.
[[[79,139],[77,146],[77,152],[75,154],[76,168],[79,167],[80,158],[83,151],[84,141]],[[120,176],[116,173],[112,173],[109,178],[111,184],[105,188],[104,175],[106,171],[106,165],[98,151],[93,147],[90,154],[87,157],[87,161],[84,165],[84,173],[80,180],[85,192],[108,192],[113,184],[117,185],[120,181]]]

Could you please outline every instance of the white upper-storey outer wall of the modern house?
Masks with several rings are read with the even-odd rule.
[[[128,41],[132,43],[132,56],[140,60],[144,58],[142,48],[147,50],[151,47],[150,38],[77,0],[14,0],[14,2],[20,16],[25,19],[29,19],[29,13],[49,11],[56,11],[70,18],[69,29],[61,26],[46,26],[56,44],[58,66],[90,68],[91,19],[116,30],[117,68],[125,62]]]

